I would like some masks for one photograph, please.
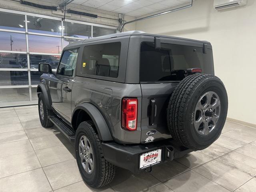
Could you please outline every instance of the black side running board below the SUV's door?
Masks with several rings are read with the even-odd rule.
[[[60,118],[56,116],[50,116],[49,119],[70,141],[75,140],[76,133]]]

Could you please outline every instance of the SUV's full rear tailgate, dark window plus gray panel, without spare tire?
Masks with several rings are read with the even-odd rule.
[[[211,45],[203,53],[203,43],[182,43],[161,43],[160,49],[155,48],[154,42],[141,43],[141,143],[171,138],[166,111],[172,92],[186,77],[184,70],[201,68],[202,73],[214,74]]]

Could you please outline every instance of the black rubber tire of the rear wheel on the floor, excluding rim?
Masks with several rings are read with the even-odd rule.
[[[94,170],[91,174],[84,170],[79,156],[79,142],[81,136],[86,136],[94,152]],[[107,162],[103,156],[101,141],[92,121],[80,123],[76,130],[76,162],[83,180],[92,188],[99,188],[110,183],[115,176],[115,166]]]

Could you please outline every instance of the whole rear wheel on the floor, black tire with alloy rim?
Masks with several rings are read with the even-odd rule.
[[[83,180],[93,188],[110,183],[115,166],[103,156],[102,146],[91,121],[82,122],[76,130],[76,162]]]

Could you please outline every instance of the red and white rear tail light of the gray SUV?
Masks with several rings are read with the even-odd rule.
[[[122,100],[122,128],[130,131],[137,130],[138,99],[123,98]]]

